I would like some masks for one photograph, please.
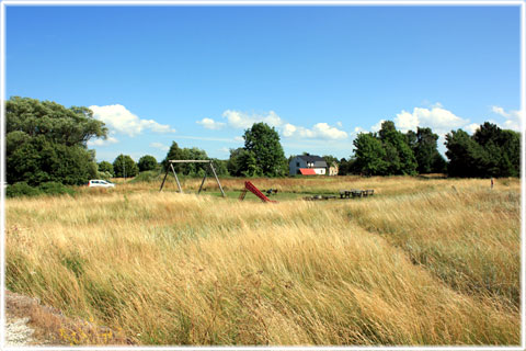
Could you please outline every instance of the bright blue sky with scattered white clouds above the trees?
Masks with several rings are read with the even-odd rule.
[[[7,7],[5,90],[104,121],[99,161],[227,159],[266,122],[285,154],[348,158],[392,120],[519,129],[519,7]],[[439,140],[443,143],[443,139]],[[441,146],[444,151],[444,147]]]

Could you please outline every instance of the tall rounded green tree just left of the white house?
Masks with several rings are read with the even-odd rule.
[[[282,177],[287,172],[287,161],[279,143],[279,135],[274,127],[265,123],[254,123],[244,131],[244,149],[250,154],[244,155],[243,172],[253,174],[261,171],[262,176]],[[252,158],[255,163],[252,163]],[[250,166],[250,169],[249,169]]]

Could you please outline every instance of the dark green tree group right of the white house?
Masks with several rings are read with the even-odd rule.
[[[362,133],[354,156],[342,160],[343,173],[365,176],[446,173],[448,177],[521,176],[521,133],[484,122],[469,135],[462,129],[445,136],[446,157],[437,150],[438,135],[418,127],[405,134],[386,121],[377,133]]]

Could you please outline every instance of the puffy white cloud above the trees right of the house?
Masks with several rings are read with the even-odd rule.
[[[438,103],[431,110],[414,107],[412,113],[402,110],[402,112],[395,117],[397,128],[402,132],[408,132],[409,129],[414,131],[418,126],[421,126],[430,127],[438,134],[445,134],[467,123],[469,123],[469,120],[460,118]]]

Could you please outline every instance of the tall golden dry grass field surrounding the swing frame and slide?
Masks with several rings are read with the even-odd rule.
[[[7,285],[139,344],[519,344],[519,180],[251,181],[279,203],[242,179],[8,200]],[[341,189],[375,196],[300,200]]]

